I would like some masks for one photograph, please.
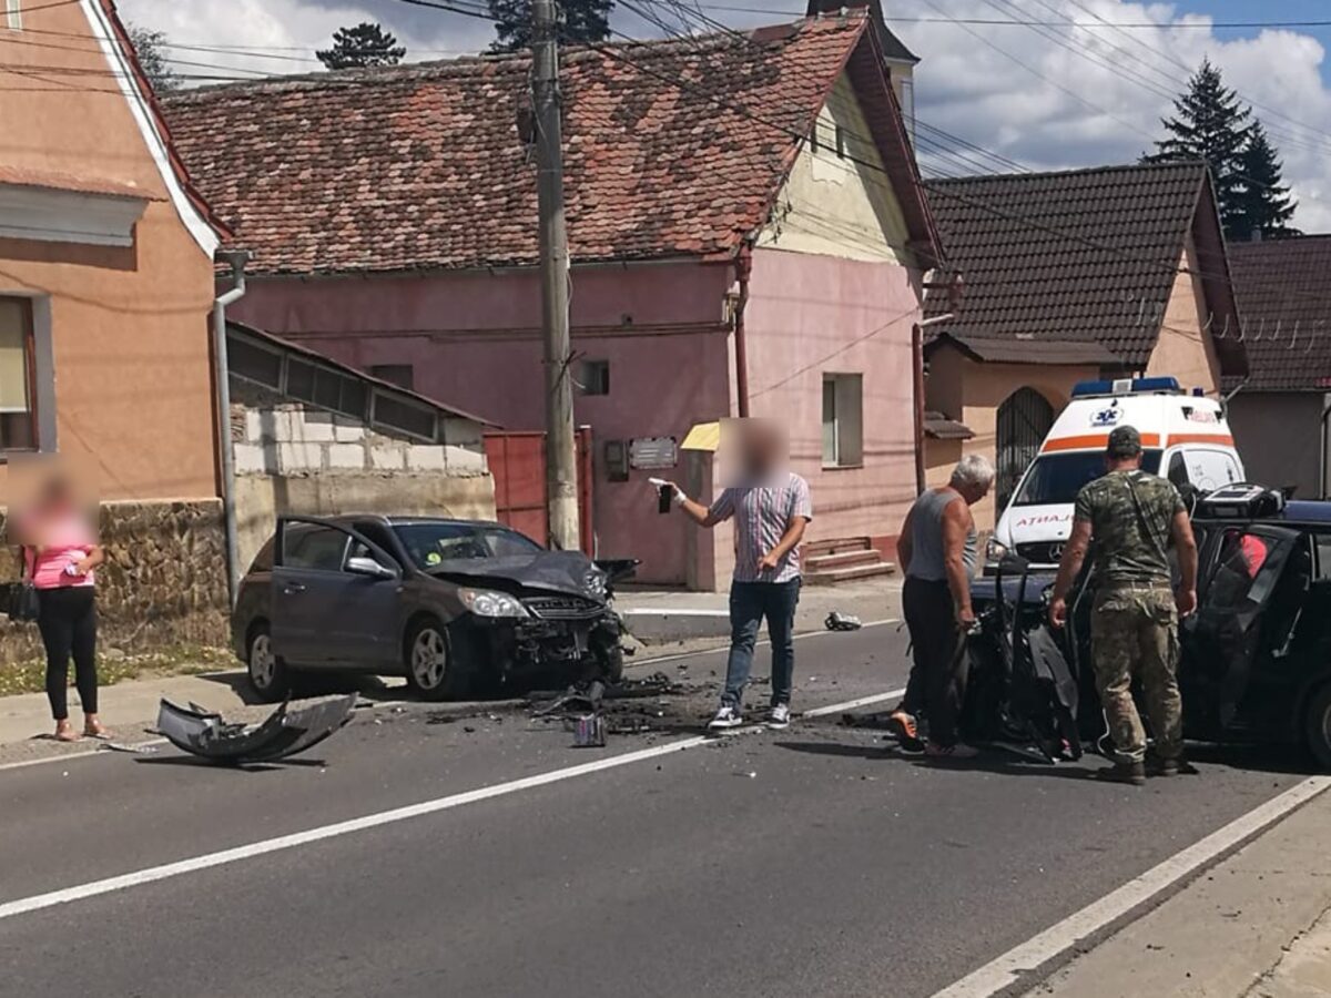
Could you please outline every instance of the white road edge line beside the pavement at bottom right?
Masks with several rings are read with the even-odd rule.
[[[1331,777],[1310,776],[1278,797],[1272,797],[1225,828],[1175,853],[1141,877],[1106,894],[1081,912],[1045,929],[997,959],[985,963],[972,974],[933,995],[933,998],[990,998],[1021,982],[1022,977],[1055,959],[1101,931],[1139,905],[1159,896],[1189,874],[1197,873],[1215,860],[1244,844],[1274,825],[1292,810],[1331,789]],[[1030,981],[1034,987],[1038,981]]]

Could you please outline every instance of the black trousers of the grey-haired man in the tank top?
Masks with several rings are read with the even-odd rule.
[[[929,740],[953,745],[966,696],[966,656],[952,589],[945,582],[906,579],[901,604],[914,652],[902,705],[914,711],[922,701]]]

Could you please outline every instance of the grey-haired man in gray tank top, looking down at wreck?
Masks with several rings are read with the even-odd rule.
[[[994,482],[993,466],[968,454],[946,486],[916,499],[897,540],[897,559],[906,575],[901,592],[914,664],[905,699],[892,712],[898,733],[916,737],[914,713],[922,707],[929,719],[925,754],[970,758],[976,749],[957,737],[957,719],[966,693],[965,643],[974,623],[970,579],[976,571],[976,520],[970,507]]]

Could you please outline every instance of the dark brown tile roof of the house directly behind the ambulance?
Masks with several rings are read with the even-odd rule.
[[[1186,238],[1215,313],[1233,313],[1205,165],[1107,166],[937,180],[929,200],[965,291],[941,331],[958,341],[1099,343],[1143,369],[1159,337]],[[928,311],[946,310],[945,302]],[[1242,350],[1222,347],[1242,370]]]

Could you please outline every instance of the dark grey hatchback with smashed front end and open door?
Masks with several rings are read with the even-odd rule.
[[[611,585],[635,562],[499,523],[284,516],[241,580],[232,644],[266,700],[301,672],[402,675],[431,700],[623,672]]]

